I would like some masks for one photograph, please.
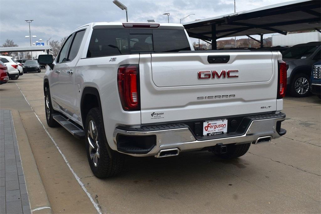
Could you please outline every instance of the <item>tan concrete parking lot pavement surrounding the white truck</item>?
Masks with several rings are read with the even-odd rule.
[[[22,167],[28,168],[23,155],[33,155],[52,212],[97,212],[90,198],[103,213],[321,212],[317,96],[286,97],[282,128],[287,134],[252,144],[236,160],[221,160],[204,151],[161,159],[128,157],[122,174],[99,179],[89,168],[84,140],[64,128],[47,126],[44,72],[27,73],[2,85],[0,108],[13,111]],[[30,154],[24,151],[26,144]],[[31,204],[38,194],[31,188],[33,176],[25,173]]]

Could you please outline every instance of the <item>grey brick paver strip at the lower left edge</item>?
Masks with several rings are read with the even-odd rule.
[[[0,213],[31,213],[10,110],[0,109]]]

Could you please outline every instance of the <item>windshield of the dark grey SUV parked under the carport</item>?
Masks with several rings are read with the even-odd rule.
[[[293,46],[282,53],[284,59],[301,59],[301,57],[307,57],[318,48],[318,45],[309,46]]]

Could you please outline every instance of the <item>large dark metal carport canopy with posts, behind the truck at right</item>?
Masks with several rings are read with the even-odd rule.
[[[190,37],[212,41],[216,49],[216,39],[231,36],[261,35],[296,30],[320,29],[320,0],[296,0],[254,10],[231,13],[184,23]]]

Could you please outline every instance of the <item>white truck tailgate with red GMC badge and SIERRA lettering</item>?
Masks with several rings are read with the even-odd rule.
[[[228,62],[213,63],[227,57]],[[281,57],[278,52],[141,54],[142,124],[276,111]]]

